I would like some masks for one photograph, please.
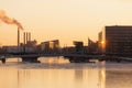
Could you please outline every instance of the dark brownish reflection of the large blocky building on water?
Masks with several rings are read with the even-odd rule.
[[[107,70],[106,88],[132,88],[132,70]]]

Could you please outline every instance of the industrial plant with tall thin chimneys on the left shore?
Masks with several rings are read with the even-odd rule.
[[[2,46],[0,48],[1,54],[32,54],[36,53],[36,41],[31,41],[31,33],[23,33],[23,43],[20,43],[20,31],[18,29],[18,45]]]

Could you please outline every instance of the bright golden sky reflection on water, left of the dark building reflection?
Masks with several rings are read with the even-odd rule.
[[[98,69],[0,69],[0,88],[99,88]],[[100,88],[105,88],[101,87]]]

